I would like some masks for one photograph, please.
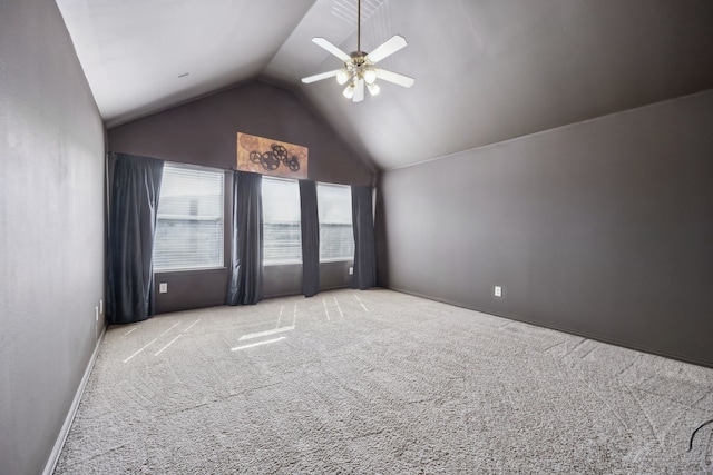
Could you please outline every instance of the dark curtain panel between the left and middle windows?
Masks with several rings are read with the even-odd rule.
[[[262,299],[262,175],[233,171],[233,243],[227,305],[254,305]]]

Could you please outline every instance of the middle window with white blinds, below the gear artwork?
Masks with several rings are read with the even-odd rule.
[[[263,265],[302,264],[300,186],[263,176]]]

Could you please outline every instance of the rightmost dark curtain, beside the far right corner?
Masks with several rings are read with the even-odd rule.
[[[371,188],[352,186],[352,226],[354,228],[354,275],[352,288],[377,285],[377,253]]]

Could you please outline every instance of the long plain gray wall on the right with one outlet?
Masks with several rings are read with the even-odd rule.
[[[712,131],[706,91],[388,171],[380,285],[713,366]]]

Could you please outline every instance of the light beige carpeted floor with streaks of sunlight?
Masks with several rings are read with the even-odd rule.
[[[712,369],[336,290],[109,328],[55,473],[713,473],[712,417]]]

